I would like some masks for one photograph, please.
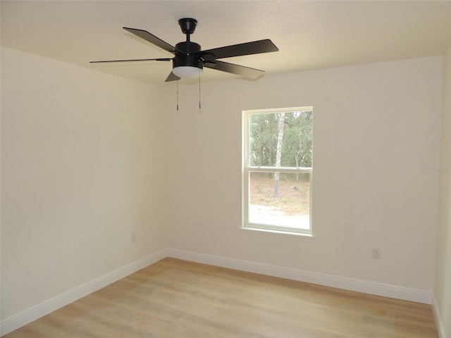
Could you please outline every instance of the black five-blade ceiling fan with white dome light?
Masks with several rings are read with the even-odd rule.
[[[133,60],[91,61],[91,63],[172,61],[173,70],[166,78],[166,82],[180,80],[180,78],[197,77],[202,73],[204,67],[255,79],[260,75],[263,75],[264,70],[218,61],[218,58],[231,58],[233,56],[244,56],[278,51],[278,48],[275,44],[273,44],[273,42],[271,42],[270,39],[245,42],[244,44],[234,44],[231,46],[223,46],[202,51],[199,44],[190,41],[190,35],[192,35],[196,29],[197,20],[192,18],[182,18],[178,20],[178,24],[180,25],[183,34],[186,35],[186,41],[175,44],[175,47],[145,30],[123,27],[124,30],[137,35],[137,37],[140,37],[147,42],[150,42],[151,44],[159,46],[165,51],[174,54],[173,58],[140,58]]]

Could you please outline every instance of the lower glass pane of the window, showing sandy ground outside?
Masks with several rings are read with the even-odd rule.
[[[310,228],[309,173],[249,173],[249,223]]]

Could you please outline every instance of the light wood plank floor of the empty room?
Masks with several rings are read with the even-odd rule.
[[[438,337],[431,306],[165,258],[18,337]]]

